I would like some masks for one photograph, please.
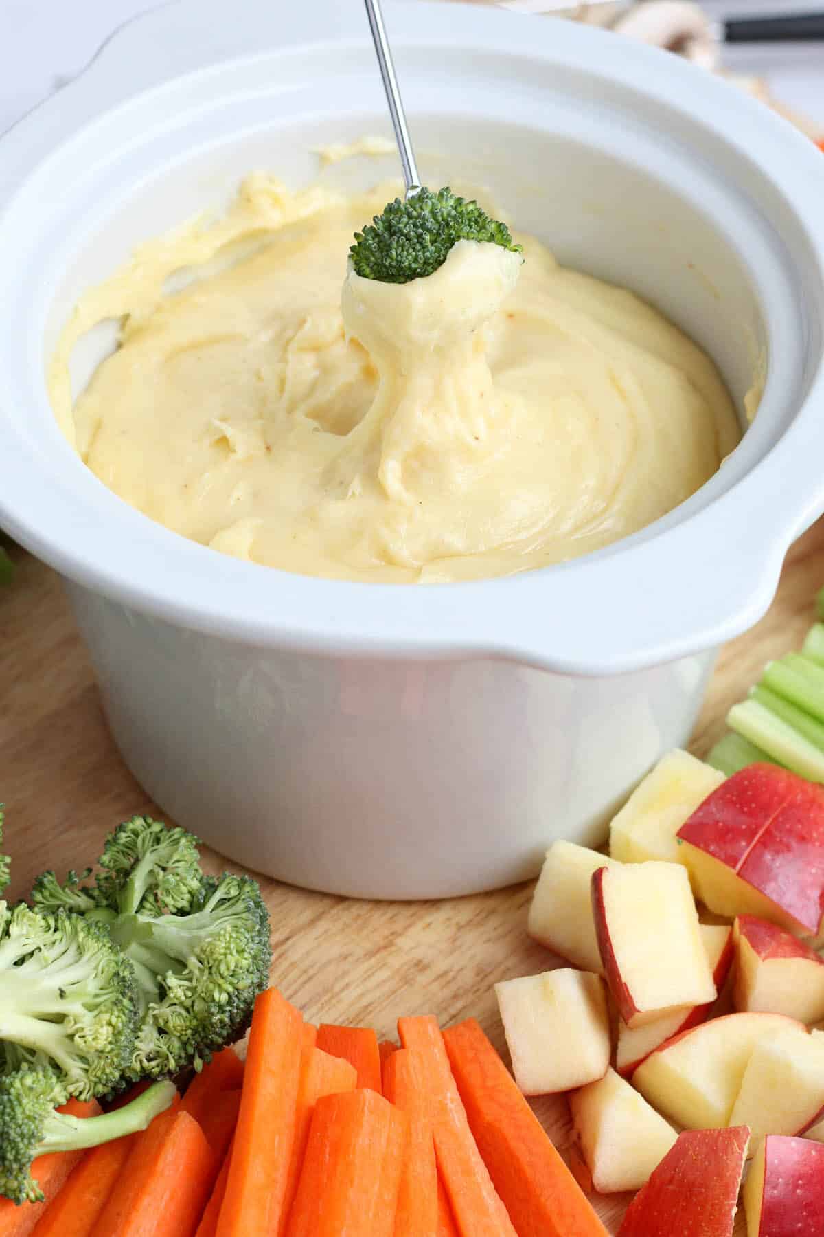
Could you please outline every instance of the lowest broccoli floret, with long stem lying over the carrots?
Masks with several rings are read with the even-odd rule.
[[[67,1096],[52,1070],[23,1065],[0,1077],[0,1194],[17,1204],[42,1201],[31,1174],[38,1155],[99,1147],[146,1129],[175,1095],[174,1084],[156,1082],[115,1112],[74,1117],[54,1111]]]

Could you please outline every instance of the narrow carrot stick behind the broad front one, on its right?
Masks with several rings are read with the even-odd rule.
[[[383,1094],[409,1117],[394,1237],[437,1237],[437,1165],[421,1063],[409,1048],[383,1064]]]

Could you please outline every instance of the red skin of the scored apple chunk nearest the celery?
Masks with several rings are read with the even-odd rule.
[[[824,912],[824,792],[773,764],[723,782],[678,830],[814,935]]]

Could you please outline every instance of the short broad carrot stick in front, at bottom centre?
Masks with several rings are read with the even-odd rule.
[[[369,1087],[320,1098],[288,1237],[392,1237],[408,1126]]]

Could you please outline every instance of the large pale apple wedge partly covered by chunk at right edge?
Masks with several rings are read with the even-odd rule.
[[[760,1039],[798,1027],[777,1013],[730,1013],[693,1027],[650,1053],[633,1085],[670,1121],[687,1129],[720,1129]]]

